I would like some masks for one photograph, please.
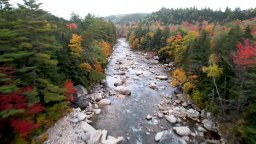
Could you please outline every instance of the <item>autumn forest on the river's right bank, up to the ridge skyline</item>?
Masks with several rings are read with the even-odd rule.
[[[118,25],[118,34],[133,50],[174,62],[172,86],[182,86],[197,105],[215,113],[231,143],[255,143],[255,13],[162,8]]]

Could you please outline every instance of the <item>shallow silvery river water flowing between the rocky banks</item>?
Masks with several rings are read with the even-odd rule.
[[[92,127],[95,129],[106,129],[108,135],[114,137],[124,136],[123,143],[156,143],[154,137],[157,132],[170,130],[176,124],[170,124],[165,118],[158,118],[158,104],[161,102],[160,93],[164,92],[173,97],[173,88],[167,81],[156,81],[155,71],[160,75],[170,77],[170,71],[162,68],[162,65],[149,65],[144,59],[144,54],[134,52],[130,49],[129,43],[125,39],[118,39],[118,43],[113,47],[113,53],[109,57],[109,64],[106,69],[107,93],[114,90],[114,82],[121,79],[120,75],[114,75],[117,62],[121,61],[124,67],[130,67],[126,71],[129,77],[124,85],[131,89],[131,95],[126,97],[108,96],[112,103],[101,107],[101,115],[92,119]],[[133,68],[131,68],[133,65]],[[136,67],[136,68],[135,68]],[[143,70],[143,76],[138,76],[140,80],[134,80],[137,70]],[[152,89],[148,87],[150,77],[156,81],[158,87],[165,86],[165,89]],[[152,120],[147,121],[146,116],[151,115]],[[177,124],[179,125],[179,124]],[[149,135],[146,134],[148,132]],[[130,140],[127,140],[130,137]]]

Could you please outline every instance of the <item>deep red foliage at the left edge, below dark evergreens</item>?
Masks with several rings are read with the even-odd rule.
[[[0,72],[4,74],[4,78],[11,77],[11,74],[15,73],[11,67],[6,67],[6,64],[1,67]],[[2,81],[1,87],[9,86],[13,81],[14,79]],[[5,126],[4,123],[8,121],[14,131],[20,131],[20,136],[26,136],[32,129],[40,126],[40,124],[34,124],[34,121],[27,120],[28,117],[34,117],[34,114],[44,110],[39,103],[28,104],[26,102],[24,92],[32,91],[32,89],[33,87],[26,86],[13,92],[0,92],[1,127]]]

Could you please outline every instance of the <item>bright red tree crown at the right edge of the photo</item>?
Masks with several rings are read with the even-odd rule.
[[[245,45],[238,42],[237,53],[230,53],[233,56],[233,62],[236,67],[243,69],[253,67],[256,64],[256,45],[250,44],[249,40],[245,40]]]

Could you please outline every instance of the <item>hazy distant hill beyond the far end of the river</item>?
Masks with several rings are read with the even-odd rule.
[[[110,15],[104,17],[107,21],[113,21],[115,24],[124,25],[129,22],[137,22],[138,20],[144,19],[150,13],[135,13],[135,14],[121,14],[121,15]]]

